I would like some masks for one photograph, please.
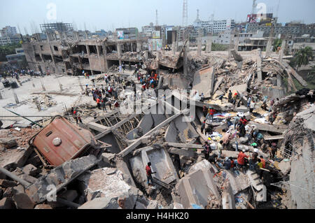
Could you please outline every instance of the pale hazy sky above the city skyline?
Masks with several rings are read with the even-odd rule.
[[[257,0],[257,3],[264,3],[267,13],[278,15],[278,22],[315,23],[314,0]],[[252,0],[188,0],[188,24],[193,24],[197,9],[200,20],[210,20],[214,13],[214,20],[231,18],[245,22],[252,5]],[[10,25],[19,27],[22,34],[25,31],[31,34],[41,31],[39,24],[44,22],[69,22],[80,30],[137,27],[141,31],[150,22],[155,24],[155,10],[159,24],[183,22],[183,0],[10,0],[1,2],[0,29]],[[258,10],[262,8],[256,9],[256,13]]]

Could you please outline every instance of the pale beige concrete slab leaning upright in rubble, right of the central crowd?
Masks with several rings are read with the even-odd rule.
[[[201,95],[204,93],[205,98],[211,97],[214,91],[214,66],[207,67],[197,71],[193,80],[193,89]]]

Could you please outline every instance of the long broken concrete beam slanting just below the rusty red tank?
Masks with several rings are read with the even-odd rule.
[[[52,190],[49,185],[56,187],[56,192],[66,187],[72,180],[78,178],[79,175],[92,168],[99,162],[97,157],[89,155],[78,159],[71,159],[64,162],[61,166],[53,168],[50,173],[43,175],[41,178],[25,189],[32,201],[41,203],[45,201]]]

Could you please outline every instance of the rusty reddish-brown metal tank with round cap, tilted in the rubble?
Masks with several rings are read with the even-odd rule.
[[[78,128],[64,117],[56,116],[52,122],[29,141],[52,166],[76,159],[87,149],[98,145],[92,133]]]

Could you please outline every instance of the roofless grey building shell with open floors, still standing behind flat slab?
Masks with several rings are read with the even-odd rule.
[[[53,34],[47,34],[47,41],[29,41],[22,43],[29,69],[46,73],[64,75],[82,75],[106,72],[111,66],[134,65],[144,58],[137,51],[144,48],[146,39],[102,40],[64,39],[59,41]],[[133,52],[135,56],[130,56]],[[126,54],[127,53],[127,54]]]

